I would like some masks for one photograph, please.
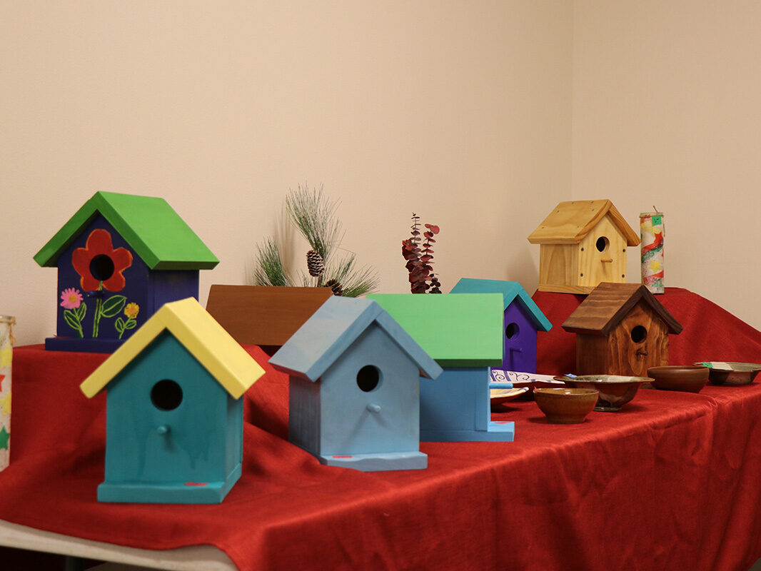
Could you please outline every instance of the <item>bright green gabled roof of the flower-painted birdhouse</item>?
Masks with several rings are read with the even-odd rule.
[[[219,263],[166,200],[119,193],[95,193],[34,255],[34,261],[56,266],[63,250],[98,214],[151,270],[210,270]]]

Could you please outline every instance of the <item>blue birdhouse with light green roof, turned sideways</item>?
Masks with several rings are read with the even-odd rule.
[[[420,439],[510,442],[515,423],[492,421],[490,368],[502,364],[504,298],[498,293],[372,294],[444,372],[420,379]],[[493,388],[511,385],[494,384]]]

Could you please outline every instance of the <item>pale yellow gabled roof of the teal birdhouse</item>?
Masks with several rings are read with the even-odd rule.
[[[195,298],[187,298],[167,303],[156,311],[79,385],[81,391],[88,398],[94,397],[164,330],[170,331],[234,398],[239,398],[264,375],[259,363],[214,317]]]

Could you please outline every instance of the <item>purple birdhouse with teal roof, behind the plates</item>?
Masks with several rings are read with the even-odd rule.
[[[501,279],[462,278],[451,293],[499,293],[505,306],[502,370],[537,372],[537,332],[552,324],[518,282]]]

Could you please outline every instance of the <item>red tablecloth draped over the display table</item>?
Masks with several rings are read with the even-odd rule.
[[[579,299],[535,295],[555,324],[540,334],[540,372],[573,370],[573,336],[559,324]],[[659,299],[684,326],[672,362],[761,360],[761,333],[709,301],[685,290]],[[515,442],[424,442],[427,470],[365,474],[321,466],[282,438],[287,381],[268,367],[246,395],[243,477],[221,505],[124,505],[95,499],[106,401],[78,389],[103,359],[15,350],[0,518],[132,547],[214,544],[251,571],[699,571],[761,557],[758,382],[643,390],[571,426],[513,402],[499,416],[515,421]]]

